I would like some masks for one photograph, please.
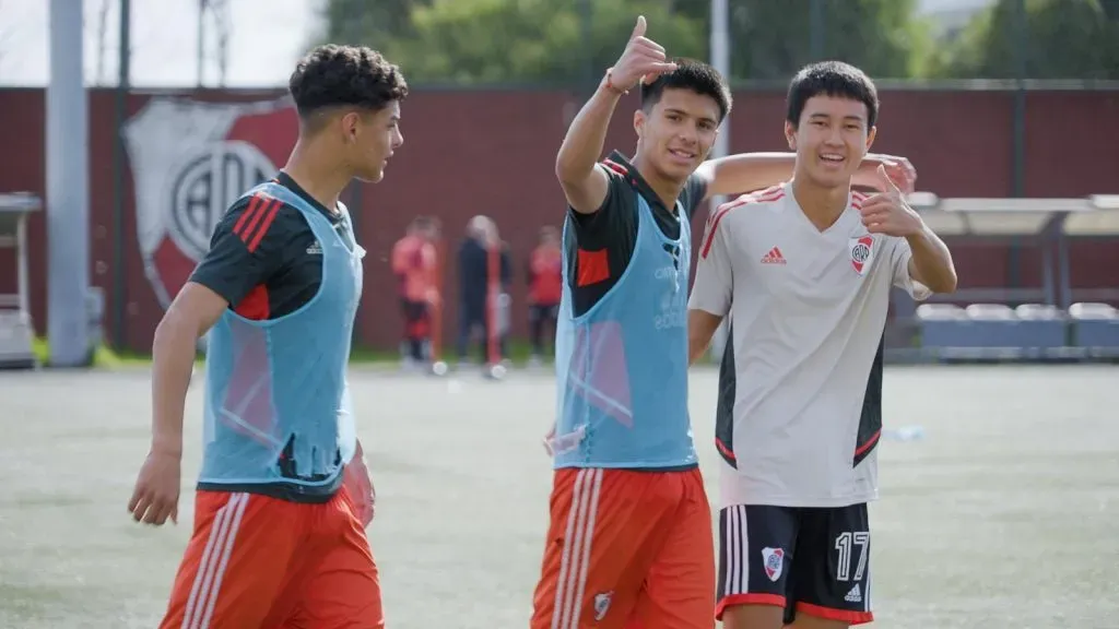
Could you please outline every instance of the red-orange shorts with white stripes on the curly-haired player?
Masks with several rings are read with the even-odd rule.
[[[380,629],[380,584],[345,489],[320,505],[198,491],[160,629]]]

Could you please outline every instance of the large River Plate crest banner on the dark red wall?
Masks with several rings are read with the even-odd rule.
[[[295,141],[286,98],[204,103],[156,97],[123,134],[144,274],[160,307],[209,250],[229,205],[273,177]]]

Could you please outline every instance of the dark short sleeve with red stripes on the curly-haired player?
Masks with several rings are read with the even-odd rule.
[[[285,264],[290,236],[307,219],[279,199],[238,200],[218,223],[210,248],[190,275],[236,308]]]

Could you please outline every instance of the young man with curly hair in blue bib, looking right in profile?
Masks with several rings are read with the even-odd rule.
[[[156,330],[152,442],[129,510],[178,515],[184,401],[209,334],[194,535],[160,627],[384,627],[373,488],[346,384],[364,250],[338,197],[403,142],[399,69],[323,46],[290,82],[299,141],[233,204]]]

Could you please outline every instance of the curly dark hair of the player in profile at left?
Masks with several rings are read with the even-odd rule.
[[[327,44],[307,54],[288,82],[299,116],[326,107],[379,111],[408,95],[401,68],[364,46]]]

